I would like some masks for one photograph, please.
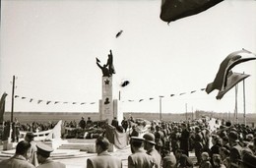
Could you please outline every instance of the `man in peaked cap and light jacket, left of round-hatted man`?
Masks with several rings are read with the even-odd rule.
[[[131,138],[132,154],[128,156],[128,168],[154,168],[154,158],[145,152],[143,141],[143,138]]]

